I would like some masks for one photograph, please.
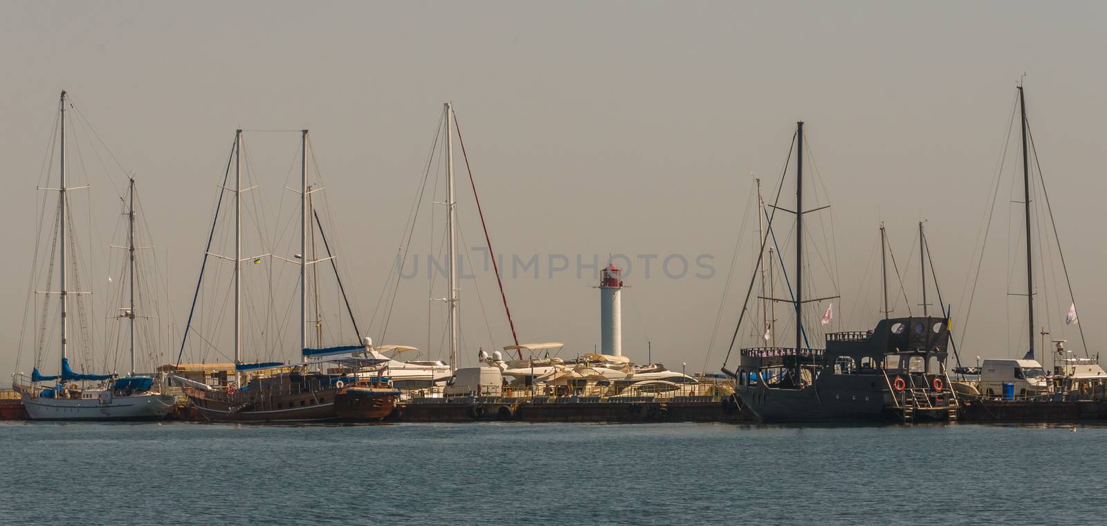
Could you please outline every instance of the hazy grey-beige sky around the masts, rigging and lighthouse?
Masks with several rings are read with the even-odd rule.
[[[508,267],[514,256],[538,257],[537,277],[505,269],[521,342],[565,342],[568,357],[591,352],[600,339],[599,292],[594,270],[578,277],[576,258],[602,264],[621,254],[632,267],[622,296],[624,353],[717,370],[756,257],[755,224],[744,223],[753,220],[753,178],[772,199],[804,121],[817,169],[811,184],[831,205],[808,216],[832,219],[832,229],[815,237],[835,270],[815,269],[809,278],[816,296],[840,296],[831,328],[865,330],[880,317],[872,255],[881,221],[903,266],[908,299],[896,300],[894,314],[907,314],[908,303],[918,309],[919,280],[910,274],[919,267],[910,267],[910,254],[925,220],[954,332],[964,331],[963,355],[1021,357],[1025,299],[1012,295],[1025,292],[1025,270],[1020,246],[1008,244],[1021,233],[1010,220],[1020,218],[1022,205],[1011,202],[1021,194],[1017,179],[994,186],[1001,158],[1003,177],[1021,169],[1017,127],[1003,156],[1021,79],[1093,354],[1107,336],[1096,322],[1107,316],[1097,214],[1107,190],[1099,159],[1107,72],[1096,66],[1107,44],[1107,7],[1099,2],[9,1],[0,14],[8,182],[0,218],[9,256],[0,262],[8,277],[0,290],[2,371],[29,373],[33,361],[25,342],[20,351],[20,333],[41,198],[35,185],[61,90],[138,182],[153,244],[168,265],[162,316],[178,333],[165,337],[168,361],[176,359],[169,345],[179,344],[173,340],[196,287],[236,128],[310,128],[343,279],[369,336],[445,358],[442,308],[428,301],[435,291],[425,267],[402,280],[387,341],[373,307],[446,101],[464,133],[494,248]],[[281,192],[299,132],[247,136],[257,145],[257,184],[275,203],[288,199]],[[479,218],[455,154],[464,246],[479,247]],[[96,244],[112,237],[125,175],[113,171],[89,183],[90,208],[103,216],[96,224],[104,230],[89,243],[106,254],[107,243]],[[794,183],[782,188],[790,208]],[[993,196],[992,237],[964,319]],[[437,254],[427,226],[435,205],[425,200],[408,252],[424,259]],[[441,223],[441,207],[436,214]],[[782,223],[778,231],[786,258],[788,228]],[[721,301],[736,241],[738,260]],[[645,276],[646,261],[673,255],[672,276],[659,267]],[[562,256],[569,269],[550,272],[548,264]],[[676,271],[681,258],[686,272]],[[697,261],[714,271],[697,272]],[[1049,269],[1044,281],[1064,288],[1057,267]],[[480,268],[474,276],[461,292],[463,365],[475,362],[478,345],[511,342],[495,278]],[[105,281],[96,276],[90,286]],[[1038,324],[1048,322],[1051,338],[1064,330],[1078,340],[1063,322],[1067,290],[1048,293],[1039,307],[1048,320]],[[813,316],[826,306],[811,306]],[[761,330],[741,332],[757,343],[746,337]],[[287,355],[268,350],[258,358],[292,359],[294,344]],[[219,345],[221,354],[205,358],[225,358],[227,345]]]

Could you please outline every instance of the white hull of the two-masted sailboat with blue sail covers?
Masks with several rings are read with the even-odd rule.
[[[30,420],[161,420],[173,410],[167,394],[147,393],[113,396],[110,401],[31,398],[23,394],[23,408]]]

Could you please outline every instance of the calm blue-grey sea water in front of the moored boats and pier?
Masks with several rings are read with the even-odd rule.
[[[0,425],[4,524],[1105,524],[1107,427]]]

